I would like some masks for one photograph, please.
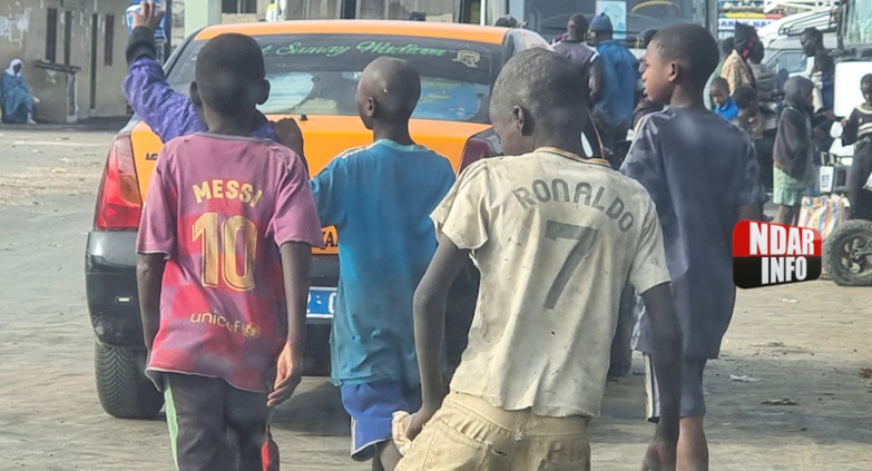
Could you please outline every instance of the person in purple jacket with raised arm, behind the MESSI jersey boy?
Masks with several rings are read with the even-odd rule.
[[[163,17],[164,12],[157,11],[154,0],[143,1],[139,13],[133,14],[133,30],[126,50],[129,70],[123,88],[130,108],[161,143],[168,143],[179,136],[205,133],[208,128],[199,100],[193,100],[189,96],[174,90],[167,84],[164,69],[156,59],[155,30]],[[296,121],[286,118],[272,122],[256,111],[251,129],[253,137],[274,140],[291,148],[303,160],[303,168],[308,171],[303,157],[303,135]],[[278,447],[273,441],[268,426],[266,435],[263,450],[264,471],[277,471]]]

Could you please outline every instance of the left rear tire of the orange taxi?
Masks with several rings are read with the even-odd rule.
[[[144,350],[95,344],[94,367],[102,410],[121,419],[151,419],[160,412],[164,395],[148,380]]]

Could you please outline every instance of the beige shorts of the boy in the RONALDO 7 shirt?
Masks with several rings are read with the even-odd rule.
[[[589,471],[588,416],[503,411],[452,392],[396,471]]]

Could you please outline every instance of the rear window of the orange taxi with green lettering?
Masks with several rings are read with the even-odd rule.
[[[490,87],[499,71],[501,45],[434,38],[355,35],[255,37],[264,51],[270,99],[266,115],[356,116],[361,71],[379,56],[409,60],[421,73],[413,118],[488,122]],[[205,41],[192,41],[167,77],[187,91]]]

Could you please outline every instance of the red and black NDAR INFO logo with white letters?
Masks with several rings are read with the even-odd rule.
[[[821,277],[821,233],[743,220],[733,229],[733,281],[741,288]]]

